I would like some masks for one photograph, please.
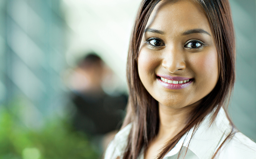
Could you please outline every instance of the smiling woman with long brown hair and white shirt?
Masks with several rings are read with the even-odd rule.
[[[144,0],[127,61],[129,105],[105,158],[256,158],[226,109],[235,81],[228,0]]]

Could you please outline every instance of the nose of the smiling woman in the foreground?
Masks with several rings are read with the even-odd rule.
[[[175,73],[186,68],[184,55],[180,50],[172,48],[163,55],[162,66],[170,73]]]

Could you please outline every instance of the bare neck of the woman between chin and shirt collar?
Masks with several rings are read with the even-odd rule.
[[[159,103],[159,132],[157,138],[169,141],[187,124],[191,111],[200,101],[183,108],[169,108]]]

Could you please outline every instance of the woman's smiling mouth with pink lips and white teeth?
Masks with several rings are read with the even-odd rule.
[[[157,79],[163,87],[168,89],[183,89],[194,81],[194,79],[185,77],[172,77],[166,75],[157,75]]]

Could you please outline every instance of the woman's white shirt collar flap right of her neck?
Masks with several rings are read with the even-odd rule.
[[[199,159],[211,158],[217,148],[224,141],[227,135],[232,131],[232,126],[223,108],[220,108],[216,119],[211,124],[213,112],[208,114],[203,122],[194,132],[194,127],[190,129],[178,143],[168,152],[164,158],[177,155],[183,148],[187,148],[190,155],[194,155]],[[193,136],[192,136],[193,135]]]

